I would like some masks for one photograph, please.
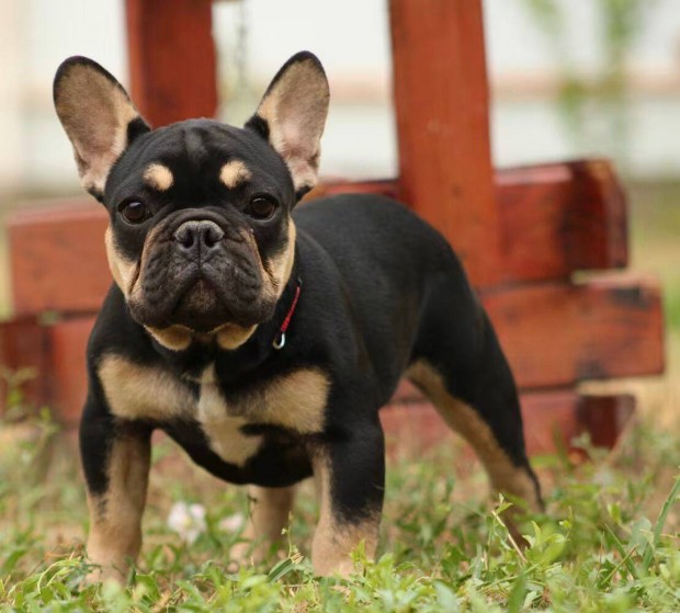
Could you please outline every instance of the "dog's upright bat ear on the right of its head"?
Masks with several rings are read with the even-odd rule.
[[[314,54],[301,52],[279,70],[256,114],[246,123],[286,162],[298,198],[317,181],[329,98],[321,63]]]

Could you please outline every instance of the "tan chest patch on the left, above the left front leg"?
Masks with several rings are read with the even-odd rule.
[[[196,404],[189,387],[170,373],[120,355],[102,360],[99,377],[111,412],[123,419],[190,418]]]

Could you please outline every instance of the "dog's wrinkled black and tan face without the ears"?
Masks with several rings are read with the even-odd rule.
[[[294,203],[285,162],[251,130],[194,120],[137,138],[104,191],[132,316],[156,336],[223,339],[268,320],[293,266]]]

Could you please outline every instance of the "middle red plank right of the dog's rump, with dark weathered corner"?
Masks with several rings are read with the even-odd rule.
[[[542,283],[487,291],[481,299],[522,388],[664,371],[656,282]]]

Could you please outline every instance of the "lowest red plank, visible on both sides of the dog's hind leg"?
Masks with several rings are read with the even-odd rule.
[[[522,419],[529,455],[566,451],[583,457],[574,440],[588,433],[596,446],[613,447],[635,408],[628,395],[580,396],[573,389],[522,394]],[[389,455],[417,455],[454,435],[422,397],[395,401],[381,411]]]

